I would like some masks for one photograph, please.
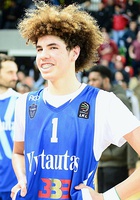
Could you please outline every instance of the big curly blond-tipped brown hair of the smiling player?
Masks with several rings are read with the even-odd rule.
[[[43,1],[35,4],[36,8],[27,9],[18,24],[19,32],[27,43],[36,44],[38,38],[44,35],[58,36],[69,49],[77,45],[80,47],[76,72],[95,65],[99,59],[98,48],[103,43],[96,20],[76,4],[64,8]]]

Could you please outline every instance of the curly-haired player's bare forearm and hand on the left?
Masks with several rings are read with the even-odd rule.
[[[18,183],[12,188],[11,197],[13,198],[13,196],[19,189],[21,189],[21,196],[25,196],[27,193],[27,189],[24,161],[24,142],[14,143],[12,164],[16,177],[18,179]]]

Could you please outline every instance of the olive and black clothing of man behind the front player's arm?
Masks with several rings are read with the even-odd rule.
[[[131,103],[125,90],[120,85],[114,85],[111,92],[130,109]],[[110,145],[99,160],[97,173],[98,192],[105,192],[128,177],[128,170],[136,167],[138,156],[128,143],[121,147]]]

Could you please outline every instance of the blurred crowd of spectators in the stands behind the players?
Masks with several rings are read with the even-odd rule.
[[[133,90],[140,104],[140,1],[139,0],[45,0],[46,3],[79,5],[97,20],[104,36],[97,64],[108,67],[113,84]],[[27,8],[35,8],[32,0],[0,0],[0,29],[16,29]],[[24,65],[24,63],[22,63]],[[25,72],[26,71],[26,72]],[[79,72],[78,79],[88,83],[88,71]],[[17,90],[21,93],[47,85],[35,64],[19,66]]]

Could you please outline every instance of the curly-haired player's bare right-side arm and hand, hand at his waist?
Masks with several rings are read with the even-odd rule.
[[[133,147],[133,149],[140,155],[140,127],[133,130],[131,133],[128,133],[124,136],[128,143]],[[116,185],[116,191],[121,200],[125,200],[128,197],[132,196],[135,193],[140,192],[140,168],[136,169],[125,181]],[[103,195],[95,192],[91,188],[80,184],[76,186],[75,189],[88,188],[93,200],[103,200]]]

